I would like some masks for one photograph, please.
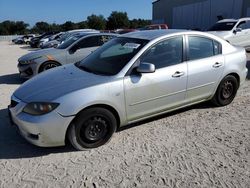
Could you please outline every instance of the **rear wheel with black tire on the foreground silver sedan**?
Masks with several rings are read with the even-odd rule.
[[[212,103],[216,106],[226,106],[230,104],[234,100],[238,88],[239,83],[237,79],[232,75],[226,76],[220,82],[220,85],[218,86],[216,93],[211,100]]]

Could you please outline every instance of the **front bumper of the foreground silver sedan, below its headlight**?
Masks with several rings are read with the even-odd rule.
[[[30,143],[40,147],[65,145],[67,128],[74,116],[63,117],[55,110],[41,116],[32,116],[22,112],[26,103],[17,101],[16,106],[9,106],[12,124],[17,125],[21,135]]]

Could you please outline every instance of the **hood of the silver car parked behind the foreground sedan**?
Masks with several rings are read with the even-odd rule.
[[[18,61],[28,61],[31,59],[35,59],[41,56],[46,56],[46,55],[54,55],[54,54],[59,54],[62,53],[63,50],[61,49],[56,49],[56,48],[48,48],[48,49],[42,49],[42,50],[37,50],[34,52],[30,52],[18,59]]]

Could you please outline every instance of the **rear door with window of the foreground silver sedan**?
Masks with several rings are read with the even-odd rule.
[[[187,39],[187,101],[195,102],[213,94],[224,70],[224,56],[215,40],[200,36]]]

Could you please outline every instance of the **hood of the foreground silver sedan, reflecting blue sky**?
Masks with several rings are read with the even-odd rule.
[[[109,82],[110,76],[95,75],[69,64],[53,68],[26,81],[14,96],[23,102],[50,102],[70,92]]]

